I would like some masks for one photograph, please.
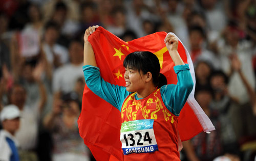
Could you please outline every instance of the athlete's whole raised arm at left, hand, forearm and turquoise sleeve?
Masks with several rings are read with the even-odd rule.
[[[89,27],[84,33],[84,51],[83,51],[83,74],[87,87],[96,95],[111,103],[119,111],[123,100],[130,93],[125,87],[112,85],[105,82],[100,76],[99,68],[97,67],[94,51],[88,37],[95,32],[99,26]]]

